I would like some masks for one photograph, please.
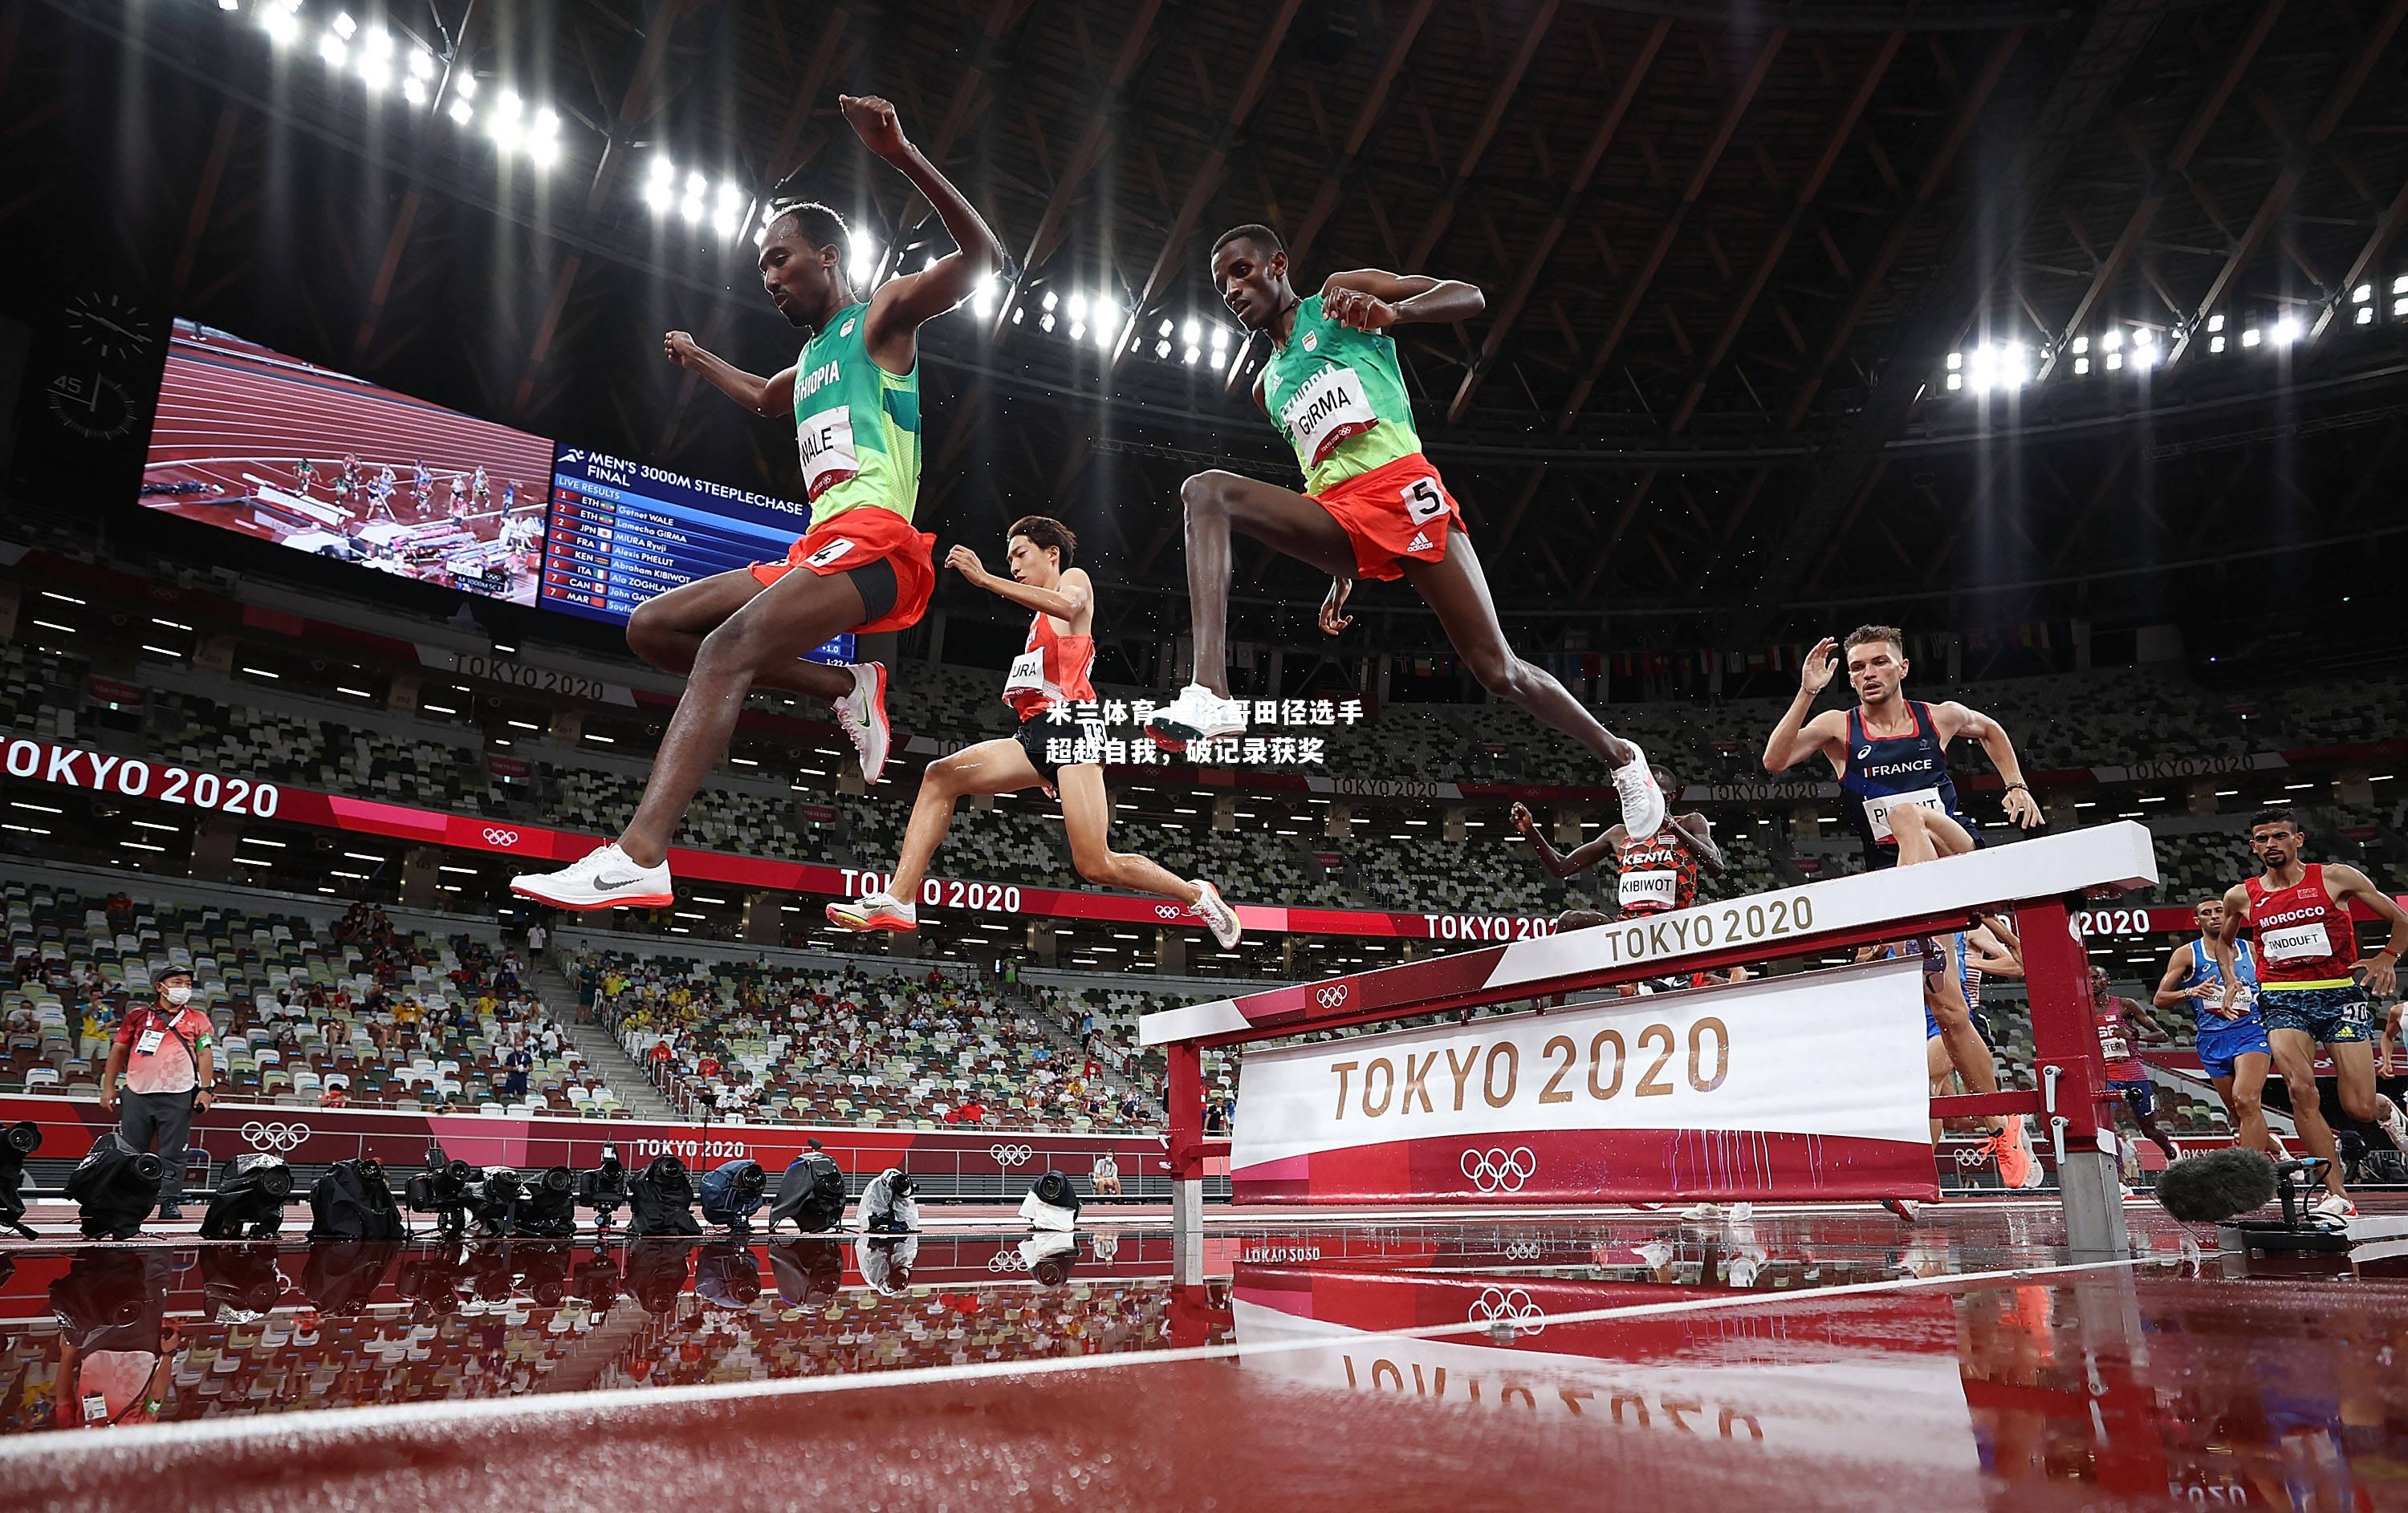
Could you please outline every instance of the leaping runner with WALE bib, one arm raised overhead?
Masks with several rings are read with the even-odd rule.
[[[937,570],[913,529],[920,496],[920,327],[970,298],[1004,265],[995,231],[970,209],[877,96],[838,96],[869,152],[893,164],[944,221],[956,253],[879,284],[867,301],[845,279],[848,231],[826,204],[773,202],[761,231],[761,284],[787,322],[811,332],[802,358],[775,378],[720,361],[686,332],[662,342],[669,361],[703,375],[759,416],[795,416],[811,524],[783,563],[718,572],[645,601],[626,642],[665,671],[686,674],[669,731],[626,832],[554,871],[510,878],[510,892],[561,909],[665,907],[669,837],[727,755],[744,695],[759,683],[836,707],[836,722],[877,782],[891,743],[886,666],[802,661],[828,637],[915,625]]]

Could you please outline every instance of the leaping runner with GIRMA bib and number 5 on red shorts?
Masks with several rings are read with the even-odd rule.
[[[1329,274],[1320,293],[1298,298],[1288,253],[1269,226],[1223,231],[1211,274],[1238,325],[1271,337],[1255,404],[1296,447],[1305,493],[1226,471],[1197,474],[1180,488],[1194,681],[1146,719],[1146,734],[1185,750],[1245,731],[1245,712],[1228,698],[1226,654],[1230,532],[1243,532],[1329,572],[1324,635],[1351,623],[1346,597],[1358,577],[1411,582],[1481,688],[1597,753],[1613,770],[1623,830],[1637,839],[1654,835],[1664,823],[1664,789],[1647,758],[1505,642],[1454,498],[1413,433],[1397,342],[1387,332],[1479,315],[1481,291],[1454,279],[1356,269]]]

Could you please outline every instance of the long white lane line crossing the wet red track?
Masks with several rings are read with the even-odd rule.
[[[1965,1287],[1982,1282],[2030,1282],[2035,1277],[2066,1277],[2076,1272],[2131,1270],[2141,1265],[2170,1265],[2172,1256],[2136,1256],[2129,1260],[2078,1260],[2066,1265],[2006,1268],[1989,1272],[1955,1272],[1941,1277],[1888,1277],[1883,1282],[1852,1282],[1847,1287],[1816,1287],[1811,1292],[1734,1292],[1731,1297],[1678,1299],[1669,1304],[1623,1304],[1616,1309],[1587,1309],[1572,1313],[1539,1313],[1522,1323],[1604,1323],[1611,1318],[1659,1318],[1666,1313],[1707,1313],[1719,1309],[1796,1306],[1840,1297],[1866,1297],[1881,1292],[1910,1292],[1929,1287]],[[1348,1335],[1358,1340],[1442,1340],[1447,1335],[1486,1335],[1493,1321],[1426,1323],[1401,1330],[1365,1330]],[[118,1424],[104,1429],[63,1429],[51,1434],[26,1434],[0,1438],[0,1462],[43,1458],[116,1455],[144,1448],[226,1446],[241,1441],[287,1441],[299,1450],[306,1441],[323,1441],[344,1434],[378,1429],[421,1429],[429,1424],[482,1424],[489,1419],[554,1419],[563,1414],[595,1417],[612,1410],[657,1410],[677,1405],[744,1402],[751,1398],[819,1398],[826,1393],[864,1393],[877,1388],[958,1386],[995,1378],[1067,1376],[1084,1371],[1117,1371],[1129,1366],[1175,1366],[1185,1361],[1223,1361],[1240,1357],[1293,1354],[1305,1349],[1329,1349],[1339,1340],[1271,1340],[1264,1345],[1190,1345],[1180,1349],[1139,1349],[1105,1357],[1045,1357],[1035,1361],[970,1361],[956,1366],[910,1366],[905,1371],[862,1371],[852,1376],[802,1376],[785,1381],[727,1381],[696,1383],[684,1388],[607,1388],[600,1393],[561,1393],[556,1398],[477,1398],[467,1402],[390,1402],[371,1407],[330,1407],[301,1414],[265,1414],[253,1419],[195,1419],[176,1424]]]

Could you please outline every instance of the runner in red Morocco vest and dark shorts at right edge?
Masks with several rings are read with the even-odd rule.
[[[2379,1123],[2394,1145],[2408,1150],[2408,1121],[2398,1104],[2374,1090],[2374,1013],[2367,993],[2398,986],[2401,950],[2408,948],[2408,912],[2338,861],[2300,861],[2307,835],[2288,808],[2266,808],[2249,820],[2249,849],[2264,868],[2225,892],[2225,909],[2208,933],[2208,955],[2223,979],[2223,1008],[2239,1003],[2242,974],[2235,943],[2256,933],[2259,1013],[2273,1042],[2273,1068],[2290,1092],[2290,1119],[2312,1157],[2324,1159],[2324,1198],[2314,1212],[2329,1222],[2357,1217],[2341,1181],[2333,1126],[2316,1092],[2316,1046],[2333,1056],[2341,1111],[2360,1123]],[[2357,957],[2357,921],[2350,904],[2365,904],[2391,926],[2382,950]]]

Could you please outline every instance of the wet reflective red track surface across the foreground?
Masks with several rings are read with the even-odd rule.
[[[1216,1215],[1202,1287],[1129,1215],[17,1246],[0,1455],[58,1508],[2408,1506],[2401,1263],[2131,1222]]]

